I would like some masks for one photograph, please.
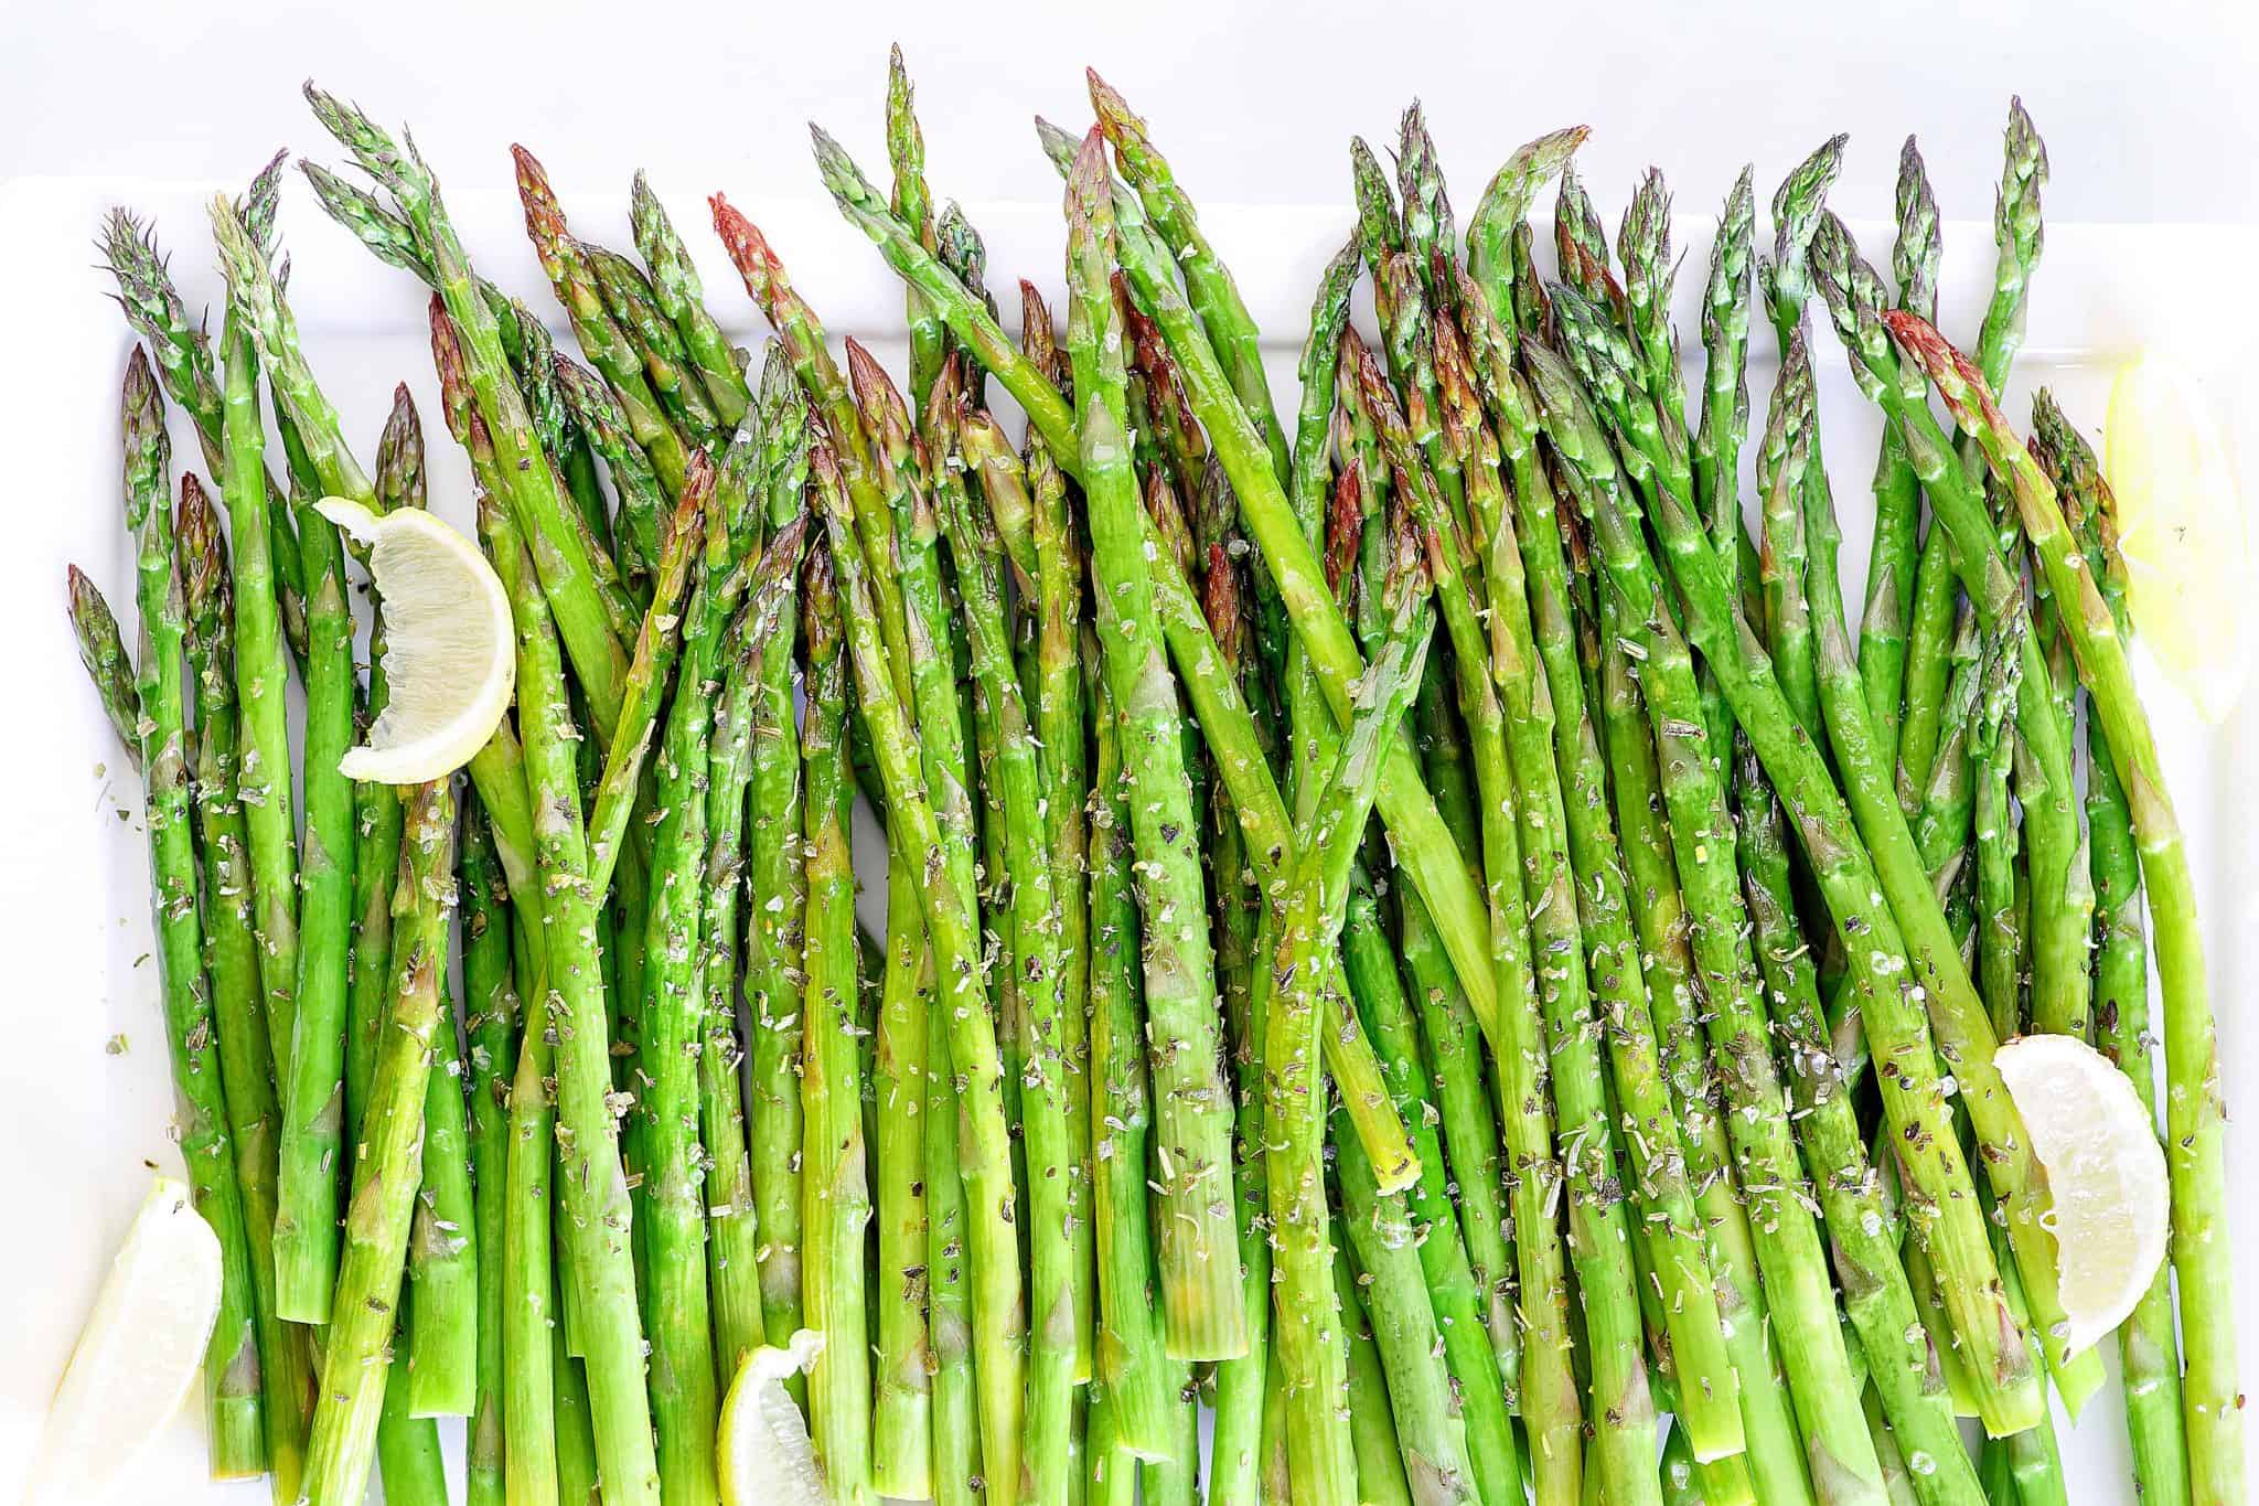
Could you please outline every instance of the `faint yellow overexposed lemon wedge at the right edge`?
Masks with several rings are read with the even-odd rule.
[[[2221,431],[2184,368],[2146,352],[2117,375],[2103,474],[2132,623],[2196,713],[2221,723],[2250,659],[2250,537]]]

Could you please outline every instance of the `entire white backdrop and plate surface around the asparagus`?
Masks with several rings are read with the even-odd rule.
[[[219,14],[230,9],[233,14]],[[549,163],[576,224],[621,242],[626,178],[648,167],[709,269],[709,298],[759,336],[716,257],[698,196],[725,187],[777,237],[836,332],[883,339],[897,291],[870,248],[820,203],[804,120],[829,124],[870,167],[886,43],[919,81],[928,169],[989,233],[1001,284],[1057,284],[1055,178],[1032,149],[1037,111],[1080,126],[1080,68],[1100,65],[1152,122],[1265,327],[1297,339],[1310,275],[1349,224],[1344,147],[1376,147],[1419,95],[1462,203],[1520,140],[1581,120],[1581,169],[1611,226],[1633,174],[1678,190],[1699,280],[1699,219],[1744,160],[1760,192],[1814,142],[1852,133],[1834,192],[1886,251],[1898,142],[1922,135],[1950,221],[1950,330],[1972,330],[1990,266],[1997,138],[2008,93],[2047,135],[2049,262],[2024,379],[2047,377],[2099,422],[2101,364],[2164,343],[2189,357],[2225,411],[2245,472],[2259,300],[2259,32],[2248,7],[2155,5],[1114,5],[949,7],[716,5],[459,7],[389,0],[355,9],[41,5],[0,14],[0,641],[9,643],[0,790],[0,939],[14,982],[0,1052],[0,1190],[20,1222],[0,1240],[0,1492],[14,1495],[45,1389],[102,1260],[163,1140],[163,1034],[149,948],[138,795],[93,707],[61,612],[63,560],[129,598],[115,501],[115,391],[127,336],[88,269],[97,214],[124,201],[158,217],[192,305],[217,296],[199,203],[278,145],[334,163],[296,97],[314,75],[386,124],[413,122],[483,271],[553,312],[508,196],[506,142]],[[1053,14],[1057,9],[1057,14]],[[1886,9],[1898,14],[1884,14]],[[1981,14],[1965,14],[1981,11]],[[43,178],[43,181],[41,181]],[[14,181],[14,183],[11,183]],[[2126,226],[2110,230],[2108,226]],[[463,517],[463,467],[429,402],[420,291],[321,221],[300,183],[282,237],[309,348],[352,431],[375,434],[391,384],[425,397],[441,510]],[[2182,282],[2184,280],[2184,282]],[[1685,291],[1685,289],[1681,289]],[[1959,321],[1959,323],[1956,323]],[[886,345],[879,345],[886,352]],[[1769,339],[1758,339],[1760,368]],[[1837,494],[1864,497],[1873,422],[1818,336]],[[1769,373],[1755,379],[1758,402]],[[2017,404],[2011,404],[2015,409]],[[185,440],[185,434],[178,434]],[[176,443],[176,463],[194,463]],[[450,490],[452,488],[452,490]],[[1864,522],[1848,517],[1857,601]],[[127,607],[127,616],[131,610]],[[2259,835],[2236,781],[2259,713],[2200,729],[2166,702],[2175,795],[2207,896],[2230,1102],[2259,1072],[2236,1000],[2254,962],[2248,901]],[[106,774],[97,777],[95,768]],[[122,815],[120,815],[122,813]],[[131,822],[131,824],[129,824]],[[124,1034],[129,1052],[102,1043]],[[2248,1068],[2248,1070],[2243,1070]],[[2236,1163],[2241,1165],[2241,1161]],[[2243,1260],[2245,1298],[2259,1253]],[[253,1501],[203,1488],[201,1425],[178,1422],[129,1486],[145,1501]],[[2065,1436],[2074,1499],[2132,1499],[2114,1402]]]

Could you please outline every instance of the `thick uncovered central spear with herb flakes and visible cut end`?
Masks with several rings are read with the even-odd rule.
[[[1177,1359],[1229,1359],[1247,1346],[1238,1303],[1229,1095],[1218,1072],[1215,980],[1200,885],[1197,831],[1184,774],[1184,734],[1141,560],[1143,531],[1127,467],[1120,341],[1114,323],[1114,212],[1105,135],[1093,131],[1069,190],[1066,345],[1084,488],[1091,573],[1107,682],[1123,716],[1130,824],[1139,853],[1139,910],[1154,1079],[1154,1158],[1163,1167],[1161,1305]],[[1111,628],[1111,632],[1107,630]]]

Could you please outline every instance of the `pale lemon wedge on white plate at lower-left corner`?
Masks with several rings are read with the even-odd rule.
[[[219,1240],[158,1176],[47,1404],[25,1501],[99,1501],[197,1384],[219,1316]]]

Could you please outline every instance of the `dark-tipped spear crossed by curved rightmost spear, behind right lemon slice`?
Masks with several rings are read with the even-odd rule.
[[[2112,625],[2126,619],[2126,562],[2117,553],[2114,497],[2085,438],[2069,424],[2047,388],[2031,409],[2033,456],[2047,467],[2078,533],[2085,569],[2096,580]],[[2108,729],[2087,723],[2087,833],[2094,844],[2094,1021],[2096,1043],[2112,1057],[2142,1106],[2155,1115],[2155,1041],[2148,1027],[2148,955],[2142,919],[2139,847],[2132,804],[2110,763]],[[2119,1328],[2119,1371],[2126,1375],[2126,1427],[2132,1431],[2135,1479],[2144,1501],[2178,1506],[2189,1499],[2189,1443],[2180,1420],[2180,1337],[2173,1330],[2173,1289],[2164,1267]]]

